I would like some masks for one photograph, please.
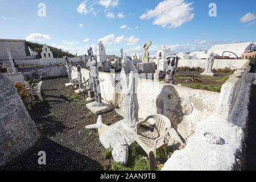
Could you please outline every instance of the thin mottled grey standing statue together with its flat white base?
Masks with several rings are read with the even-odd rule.
[[[90,62],[90,75],[93,79],[93,91],[95,102],[86,104],[86,107],[88,107],[88,109],[90,109],[94,114],[101,114],[111,110],[112,106],[107,104],[106,102],[102,102],[101,100],[100,81],[98,77],[98,64],[93,56],[90,59],[92,60]]]

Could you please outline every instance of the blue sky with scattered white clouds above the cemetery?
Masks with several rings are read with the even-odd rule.
[[[46,16],[38,16],[39,3]],[[210,3],[217,16],[209,16]],[[142,53],[148,40],[150,55],[163,45],[176,53],[207,50],[256,41],[255,7],[252,0],[0,0],[0,39],[46,43],[78,55],[95,50],[98,40],[115,55],[120,48],[127,55]]]

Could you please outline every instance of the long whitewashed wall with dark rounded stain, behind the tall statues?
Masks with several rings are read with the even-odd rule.
[[[77,78],[76,69],[72,69],[72,78]],[[87,69],[82,68],[81,73],[83,81],[89,78]],[[112,103],[115,111],[123,115],[119,75],[99,72],[99,77],[102,98]],[[170,118],[172,126],[186,139],[198,122],[216,111],[219,93],[138,78],[136,97],[139,118],[144,119],[157,113],[166,115]]]

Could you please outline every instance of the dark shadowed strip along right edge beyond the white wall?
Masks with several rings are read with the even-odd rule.
[[[256,85],[251,85],[249,123],[245,150],[245,170],[256,170]]]

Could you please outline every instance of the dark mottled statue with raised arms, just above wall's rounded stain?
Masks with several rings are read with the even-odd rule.
[[[174,84],[174,75],[177,71],[177,65],[179,64],[179,57],[168,57],[168,68],[166,70],[166,78],[164,82]]]

